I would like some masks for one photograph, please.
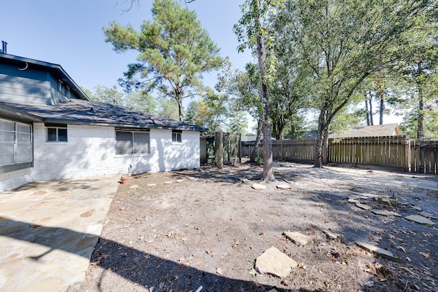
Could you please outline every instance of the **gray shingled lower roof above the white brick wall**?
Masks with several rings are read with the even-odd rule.
[[[26,116],[27,120],[34,122],[207,131],[207,129],[194,124],[179,122],[154,114],[146,114],[137,109],[80,99],[70,99],[68,102],[55,105],[0,101],[0,111],[3,111],[3,113],[16,111],[16,114]]]

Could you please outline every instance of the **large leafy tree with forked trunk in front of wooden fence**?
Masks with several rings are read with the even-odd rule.
[[[311,98],[319,110],[315,167],[326,161],[333,118],[366,77],[405,57],[407,34],[434,10],[432,0],[287,1],[276,29],[287,32],[300,66],[311,72]]]

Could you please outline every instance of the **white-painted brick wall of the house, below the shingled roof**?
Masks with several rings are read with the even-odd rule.
[[[149,155],[116,155],[114,127],[69,124],[68,142],[46,142],[43,123],[34,123],[34,168],[0,175],[0,191],[29,181],[81,178],[106,174],[164,172],[199,168],[199,132],[183,131],[172,144],[172,131],[150,132]]]

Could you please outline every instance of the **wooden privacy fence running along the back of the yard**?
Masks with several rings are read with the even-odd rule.
[[[272,156],[276,160],[313,162],[315,144],[315,140],[273,141]],[[248,155],[253,147],[254,143],[242,142],[242,153]],[[328,159],[329,163],[438,174],[438,142],[410,142],[405,136],[329,139]]]

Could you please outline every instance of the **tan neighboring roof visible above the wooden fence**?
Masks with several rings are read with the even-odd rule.
[[[331,133],[329,138],[347,137],[381,137],[381,136],[400,136],[402,135],[398,124],[378,124],[374,126],[364,126],[348,129],[346,133]]]

